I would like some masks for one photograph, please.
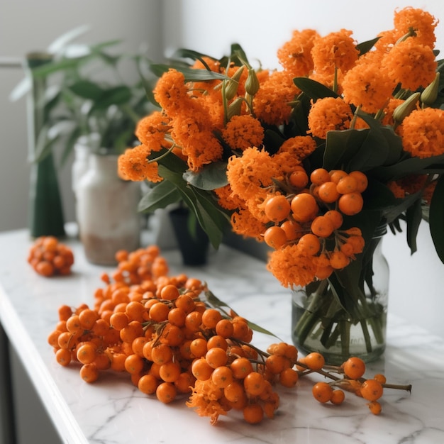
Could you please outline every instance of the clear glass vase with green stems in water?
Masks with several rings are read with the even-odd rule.
[[[302,353],[319,352],[331,365],[350,356],[376,360],[386,344],[389,265],[382,254],[386,226],[367,250],[328,279],[292,290],[292,339]]]

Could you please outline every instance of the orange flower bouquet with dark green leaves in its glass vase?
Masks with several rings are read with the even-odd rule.
[[[119,158],[128,178],[155,184],[140,210],[183,201],[214,246],[228,228],[267,243],[268,270],[304,292],[301,350],[340,362],[382,353],[387,288],[374,262],[387,227],[404,221],[413,253],[427,211],[444,262],[437,23],[409,7],[360,44],[350,30],[295,30],[277,51],[280,70],[253,67],[236,44],[220,59],[179,50],[151,67],[159,109]]]

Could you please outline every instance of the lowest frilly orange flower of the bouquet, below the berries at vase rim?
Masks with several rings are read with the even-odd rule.
[[[313,282],[317,264],[313,256],[306,255],[298,245],[288,245],[270,254],[267,269],[283,287],[294,287]]]

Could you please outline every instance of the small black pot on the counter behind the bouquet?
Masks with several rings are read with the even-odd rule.
[[[209,237],[187,208],[170,211],[172,228],[184,265],[204,265],[209,252]]]

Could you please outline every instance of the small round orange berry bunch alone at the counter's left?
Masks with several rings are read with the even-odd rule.
[[[28,263],[45,277],[70,274],[74,255],[71,248],[60,243],[54,236],[40,236],[30,247]]]

